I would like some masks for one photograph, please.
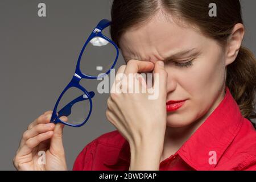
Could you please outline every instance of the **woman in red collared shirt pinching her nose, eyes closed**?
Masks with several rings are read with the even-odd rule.
[[[117,130],[86,145],[74,170],[256,169],[256,61],[241,46],[240,1],[114,0],[110,32],[126,61],[117,73],[158,74],[159,96],[111,93],[106,116]],[[67,169],[63,126],[50,118],[28,126],[16,169]]]

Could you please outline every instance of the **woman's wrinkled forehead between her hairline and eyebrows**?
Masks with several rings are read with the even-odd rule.
[[[139,27],[127,30],[120,39],[123,57],[129,59],[162,59],[172,52],[199,47],[204,36],[188,24],[176,23],[169,14],[161,13]]]

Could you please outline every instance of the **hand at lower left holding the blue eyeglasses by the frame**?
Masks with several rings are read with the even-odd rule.
[[[67,170],[62,141],[64,125],[51,123],[51,115],[52,111],[46,111],[23,133],[13,159],[17,170]],[[68,120],[67,117],[60,119]]]

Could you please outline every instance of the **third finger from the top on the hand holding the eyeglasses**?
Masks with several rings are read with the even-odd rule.
[[[46,133],[41,133],[36,135],[33,138],[28,139],[25,144],[18,150],[17,156],[28,155],[32,152],[32,150],[38,146],[44,140],[51,138],[53,135],[53,131],[47,131]]]

